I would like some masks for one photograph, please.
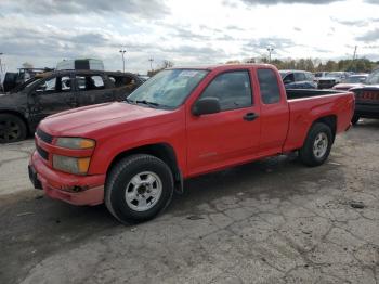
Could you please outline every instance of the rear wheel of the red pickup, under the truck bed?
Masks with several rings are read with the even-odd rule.
[[[299,151],[300,160],[309,167],[323,165],[329,156],[331,144],[330,128],[322,122],[314,124]]]

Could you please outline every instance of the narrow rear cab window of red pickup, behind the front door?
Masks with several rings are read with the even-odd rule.
[[[274,70],[258,69],[258,81],[264,104],[275,104],[280,101],[280,90]]]

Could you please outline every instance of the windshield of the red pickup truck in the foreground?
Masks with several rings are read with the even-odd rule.
[[[207,74],[199,69],[162,70],[132,92],[127,102],[177,108]]]

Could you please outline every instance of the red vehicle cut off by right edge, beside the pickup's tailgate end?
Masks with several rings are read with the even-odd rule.
[[[352,124],[361,117],[379,119],[379,69],[374,70],[365,85],[351,89],[355,93],[355,111]]]

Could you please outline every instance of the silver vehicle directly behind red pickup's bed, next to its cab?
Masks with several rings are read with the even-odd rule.
[[[286,89],[317,89],[314,76],[303,70],[279,70]]]

